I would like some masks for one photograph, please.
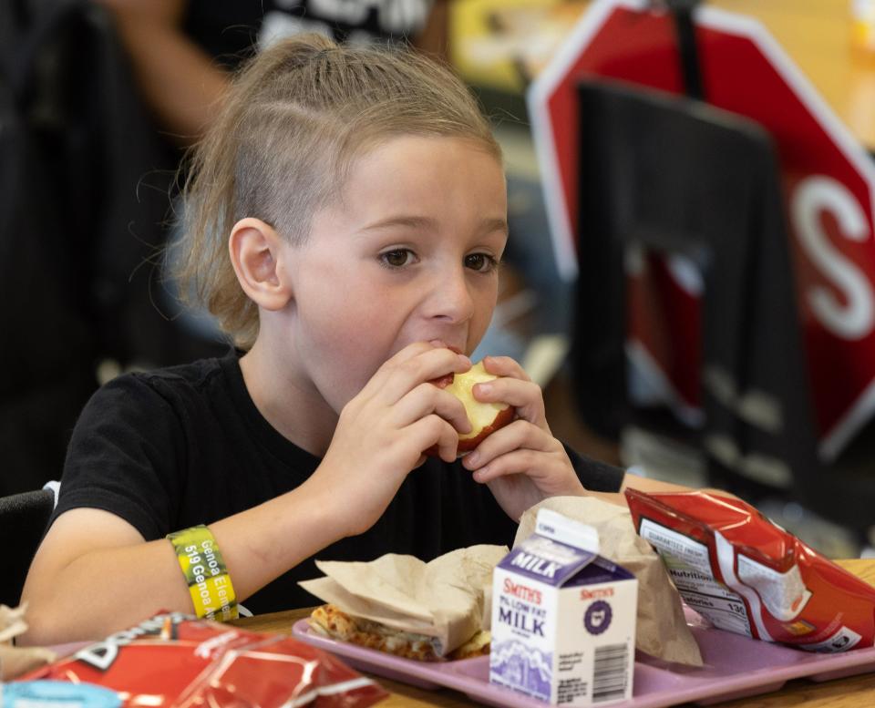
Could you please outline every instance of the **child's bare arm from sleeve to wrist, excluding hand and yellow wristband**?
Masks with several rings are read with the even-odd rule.
[[[238,600],[345,535],[341,495],[302,487],[210,525]],[[26,643],[100,639],[159,610],[192,612],[170,541],[95,508],[62,514],[27,576]]]

